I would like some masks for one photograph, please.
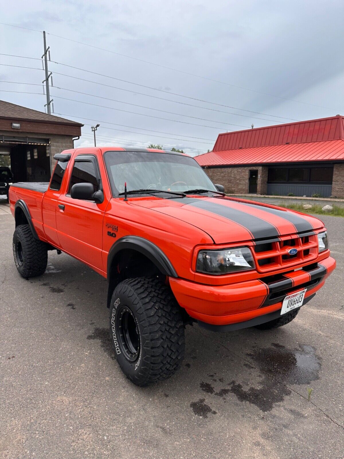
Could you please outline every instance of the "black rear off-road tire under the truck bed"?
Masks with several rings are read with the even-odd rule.
[[[47,245],[33,237],[29,225],[18,225],[13,235],[13,257],[24,279],[40,276],[48,263]]]

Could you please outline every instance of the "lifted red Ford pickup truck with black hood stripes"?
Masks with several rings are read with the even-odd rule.
[[[185,154],[102,147],[55,159],[50,184],[10,187],[17,269],[39,276],[57,250],[107,278],[114,352],[137,385],[178,369],[186,324],[288,324],[335,268],[321,220],[229,198]]]

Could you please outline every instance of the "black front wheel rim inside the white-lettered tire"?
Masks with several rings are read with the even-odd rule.
[[[129,362],[135,362],[140,353],[139,325],[127,306],[122,306],[117,313],[117,330],[123,354]]]

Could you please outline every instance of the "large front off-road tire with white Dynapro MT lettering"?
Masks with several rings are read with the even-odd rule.
[[[126,357],[123,331],[121,335],[123,311],[132,313],[139,336],[137,355],[132,354],[132,361]],[[119,366],[138,386],[169,378],[183,361],[185,341],[180,306],[169,287],[157,278],[127,279],[117,285],[111,298],[110,334]]]

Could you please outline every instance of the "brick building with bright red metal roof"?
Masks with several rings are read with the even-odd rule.
[[[195,159],[227,193],[344,197],[344,117],[219,134]]]

